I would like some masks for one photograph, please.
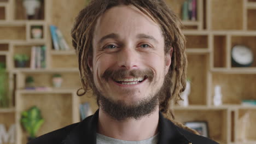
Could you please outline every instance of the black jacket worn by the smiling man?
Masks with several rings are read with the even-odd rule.
[[[98,111],[94,115],[85,118],[82,122],[68,125],[67,127],[52,131],[37,137],[27,144],[96,144],[96,129]],[[184,130],[159,112],[159,144],[217,144],[206,137],[193,134]]]

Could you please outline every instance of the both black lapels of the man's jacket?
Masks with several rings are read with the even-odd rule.
[[[96,133],[98,123],[98,110],[94,115],[80,122],[62,141],[63,144],[96,144]],[[179,127],[162,116],[159,112],[159,142],[158,144],[189,144]]]

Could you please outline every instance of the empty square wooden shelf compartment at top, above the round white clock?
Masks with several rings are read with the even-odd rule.
[[[242,30],[243,0],[214,0],[211,5],[212,30]],[[229,21],[229,22],[226,22]],[[231,23],[231,25],[230,25]]]

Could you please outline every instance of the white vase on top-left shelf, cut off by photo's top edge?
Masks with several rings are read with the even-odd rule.
[[[23,0],[23,6],[26,8],[26,14],[28,16],[36,14],[36,8],[40,7],[40,1],[38,0]]]

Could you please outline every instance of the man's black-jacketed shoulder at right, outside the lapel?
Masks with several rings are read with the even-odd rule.
[[[178,127],[177,125],[176,125],[176,127],[180,131],[180,133],[182,133],[185,137],[187,137],[187,139],[190,140],[192,143],[219,144],[216,141],[213,141],[207,137],[191,133],[188,130]]]

